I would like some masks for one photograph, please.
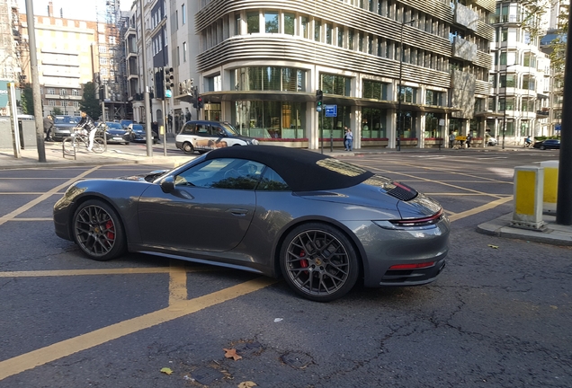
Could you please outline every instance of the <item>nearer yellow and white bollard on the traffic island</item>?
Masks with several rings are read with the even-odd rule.
[[[514,212],[511,226],[537,231],[546,229],[542,220],[543,186],[543,167],[514,167]]]

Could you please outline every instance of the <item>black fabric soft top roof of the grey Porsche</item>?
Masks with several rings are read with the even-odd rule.
[[[278,172],[292,191],[335,190],[355,186],[373,172],[338,159],[297,148],[276,145],[240,145],[218,148],[206,159],[237,158],[264,163]]]

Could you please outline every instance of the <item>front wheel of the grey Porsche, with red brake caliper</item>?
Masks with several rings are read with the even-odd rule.
[[[112,260],[125,251],[121,219],[99,199],[85,201],[76,209],[73,234],[79,248],[93,260]]]

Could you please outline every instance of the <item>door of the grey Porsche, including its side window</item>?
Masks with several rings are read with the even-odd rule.
[[[139,198],[142,242],[185,251],[235,248],[256,206],[257,178],[237,178],[245,163],[253,162],[214,159],[192,166],[174,177],[175,190],[169,193],[151,185]],[[261,166],[256,169],[262,171]]]

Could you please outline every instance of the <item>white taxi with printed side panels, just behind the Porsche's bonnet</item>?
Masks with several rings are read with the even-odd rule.
[[[181,128],[174,144],[185,154],[194,154],[195,150],[205,153],[231,145],[258,145],[258,140],[241,136],[228,122],[197,120],[188,121]]]

